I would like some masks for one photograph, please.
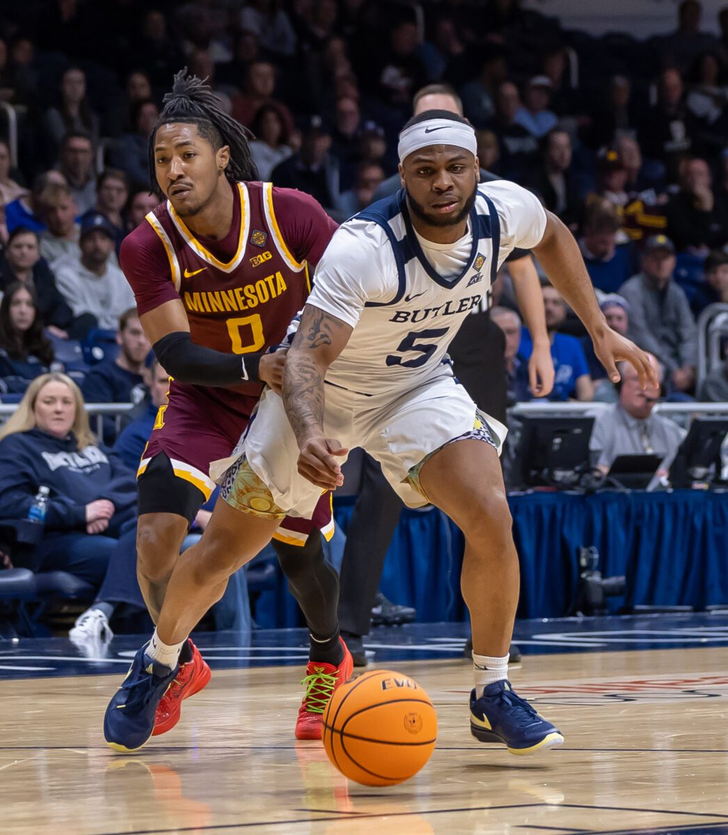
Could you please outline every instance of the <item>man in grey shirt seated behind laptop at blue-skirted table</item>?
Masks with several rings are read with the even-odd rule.
[[[655,357],[651,360],[655,367],[660,367]],[[655,453],[663,459],[658,474],[665,476],[685,437],[685,430],[669,417],[652,413],[660,399],[659,388],[643,388],[629,362],[618,362],[617,370],[621,376],[617,383],[619,401],[596,418],[589,442],[589,448],[598,456],[596,466],[602,473],[609,473],[618,455]]]

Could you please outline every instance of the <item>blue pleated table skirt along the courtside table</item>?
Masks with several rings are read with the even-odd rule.
[[[561,617],[574,600],[577,549],[594,545],[604,576],[625,574],[618,605],[728,603],[728,493],[514,494],[508,498],[521,564],[518,616]],[[354,498],[334,500],[342,529]],[[405,510],[387,554],[382,590],[413,605],[417,620],[463,620],[460,595],[463,534],[440,511]],[[281,580],[261,596],[259,625],[293,626],[301,620]]]

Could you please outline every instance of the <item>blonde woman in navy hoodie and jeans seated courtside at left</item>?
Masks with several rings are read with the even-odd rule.
[[[37,558],[100,586],[71,630],[88,648],[110,639],[115,605],[144,609],[136,581],[136,481],[88,427],[83,397],[65,374],[37,377],[0,428],[0,508],[25,519],[41,487],[50,495]],[[95,644],[94,644],[95,641]]]

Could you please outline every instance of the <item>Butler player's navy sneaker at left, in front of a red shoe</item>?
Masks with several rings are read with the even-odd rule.
[[[129,753],[144,745],[154,731],[159,701],[177,675],[174,669],[144,657],[145,644],[114,693],[104,716],[104,737],[114,751]]]

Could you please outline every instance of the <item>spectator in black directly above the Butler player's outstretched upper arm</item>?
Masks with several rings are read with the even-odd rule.
[[[565,130],[554,128],[543,136],[540,146],[542,162],[528,186],[549,211],[574,230],[579,220],[581,198],[571,169],[571,137]],[[479,161],[483,165],[483,160]]]

